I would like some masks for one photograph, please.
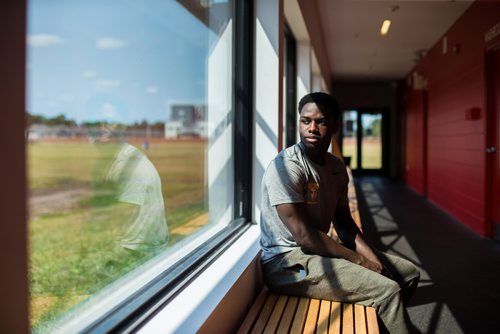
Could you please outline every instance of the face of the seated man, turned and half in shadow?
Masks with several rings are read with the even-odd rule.
[[[306,148],[326,151],[337,128],[337,120],[321,111],[316,103],[307,103],[300,111],[300,140]]]

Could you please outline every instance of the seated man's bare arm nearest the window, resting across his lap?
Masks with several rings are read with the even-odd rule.
[[[276,206],[278,215],[286,225],[297,244],[309,253],[327,257],[343,258],[365,268],[382,273],[380,263],[370,261],[360,252],[342,246],[315,226],[310,219],[305,203],[287,203]],[[361,247],[362,248],[362,247]]]

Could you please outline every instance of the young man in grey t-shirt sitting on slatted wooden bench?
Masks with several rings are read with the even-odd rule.
[[[346,167],[328,153],[337,101],[311,93],[298,109],[300,143],[281,151],[262,181],[265,283],[277,293],[375,307],[390,333],[406,333],[404,305],[420,273],[370,247],[351,217]],[[340,243],[327,235],[332,223]]]

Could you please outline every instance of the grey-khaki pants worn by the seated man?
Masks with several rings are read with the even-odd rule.
[[[410,261],[377,252],[392,279],[350,261],[305,254],[300,248],[262,264],[264,281],[274,292],[361,304],[376,308],[390,333],[408,333],[405,303],[420,272]]]

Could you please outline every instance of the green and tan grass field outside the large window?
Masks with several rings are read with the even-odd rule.
[[[162,180],[168,247],[186,236],[176,233],[180,226],[206,216],[205,147],[201,141],[158,142],[146,151]],[[155,255],[119,246],[133,208],[99,188],[114,152],[113,144],[28,146],[34,331]]]

